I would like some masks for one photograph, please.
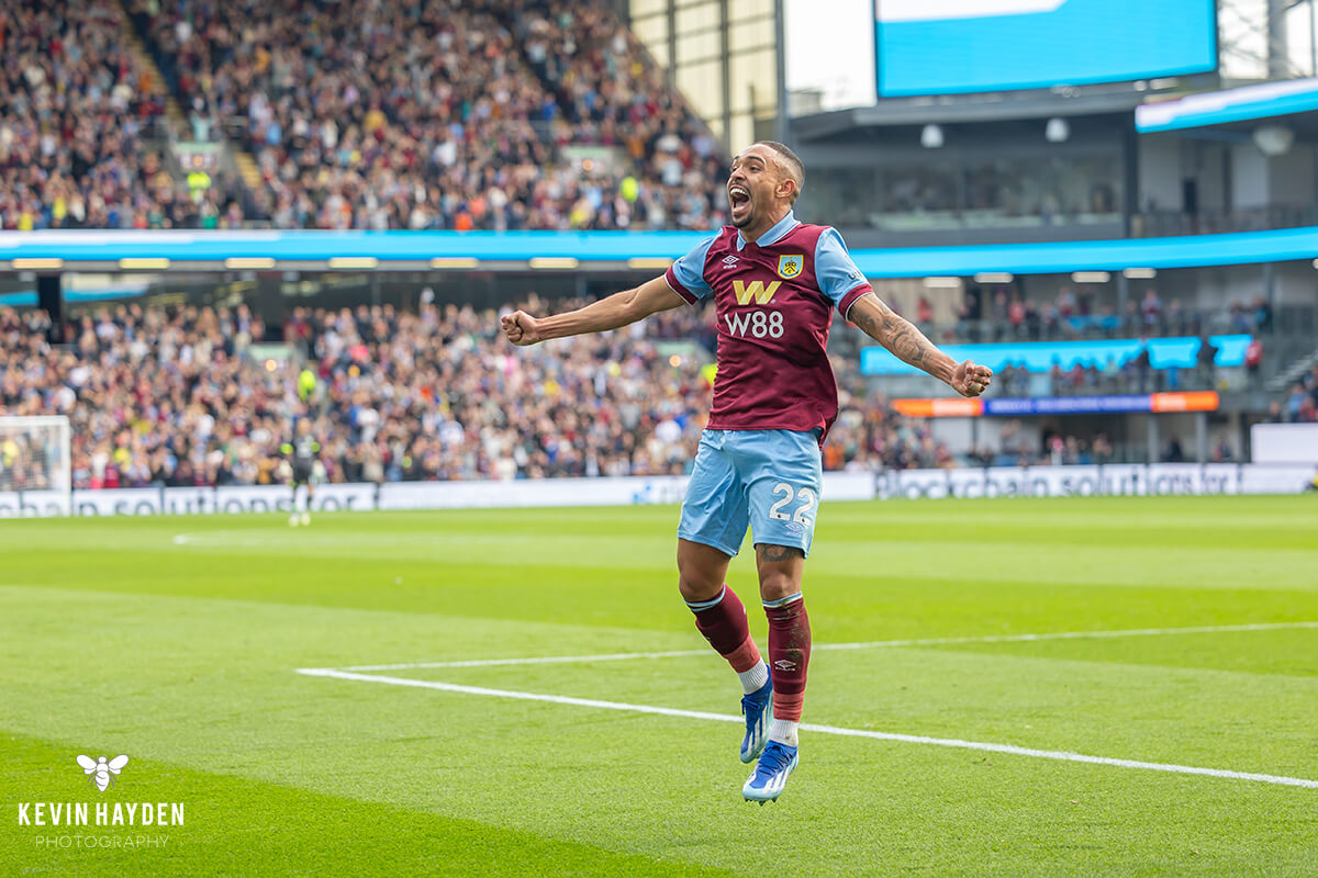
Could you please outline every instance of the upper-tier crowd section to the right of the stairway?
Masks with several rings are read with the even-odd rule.
[[[676,99],[651,88],[650,76],[646,88],[626,95],[600,83],[592,104],[598,112],[583,115],[577,103],[564,108],[527,67],[505,5],[133,0],[130,8],[190,107],[194,126],[210,136],[225,120],[241,120],[241,137],[269,184],[260,209],[278,228],[721,222],[710,209],[718,203],[717,174],[681,174],[680,183],[701,194],[684,199],[670,184],[667,165],[648,172],[658,149],[651,132],[660,120],[667,125],[680,117],[672,108]],[[629,38],[616,20],[585,4],[572,14],[580,28],[571,16],[555,22],[585,45],[602,38],[604,21]],[[548,67],[540,62],[568,50],[555,37],[561,32],[525,47],[542,72]],[[633,104],[625,108],[623,100]],[[601,124],[600,113],[616,121]],[[643,145],[619,130],[637,113]],[[627,146],[639,172],[613,171],[605,162],[558,162],[555,145],[593,143]]]

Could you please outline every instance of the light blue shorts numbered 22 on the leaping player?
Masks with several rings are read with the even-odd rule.
[[[808,555],[822,482],[818,430],[705,430],[677,537],[734,555],[749,527]]]

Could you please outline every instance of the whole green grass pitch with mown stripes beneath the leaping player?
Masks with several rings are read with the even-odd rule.
[[[0,875],[1318,874],[1311,786],[803,732],[755,807],[733,723],[424,687],[731,715],[713,653],[295,673],[700,649],[676,519],[0,523]],[[749,553],[729,581],[763,644]],[[808,723],[1318,779],[1314,498],[825,504],[805,594],[816,644],[960,638],[818,649]],[[101,794],[79,753],[130,762]],[[144,832],[167,841],[38,844]]]

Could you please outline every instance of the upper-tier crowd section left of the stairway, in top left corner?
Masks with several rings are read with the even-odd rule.
[[[0,229],[199,226],[223,211],[149,147],[165,92],[113,0],[0,0]],[[195,197],[194,197],[195,196]]]

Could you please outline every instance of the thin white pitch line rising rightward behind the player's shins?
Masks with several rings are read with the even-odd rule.
[[[1222,634],[1249,631],[1318,628],[1318,621],[1277,621],[1247,625],[1193,625],[1189,628],[1126,628],[1120,631],[1056,631],[1040,634],[987,634],[982,637],[923,637],[917,640],[871,640],[849,644],[815,644],[813,652],[844,649],[892,649],[900,646],[952,646],[958,644],[1032,644],[1044,640],[1104,640],[1115,637],[1161,637],[1166,634]],[[709,656],[709,649],[676,649],[652,653],[601,653],[597,656],[538,656],[532,658],[471,658],[451,662],[402,662],[397,665],[351,665],[349,671],[397,671],[420,667],[497,667],[501,665],[564,665],[621,662],[637,658],[683,658]]]

